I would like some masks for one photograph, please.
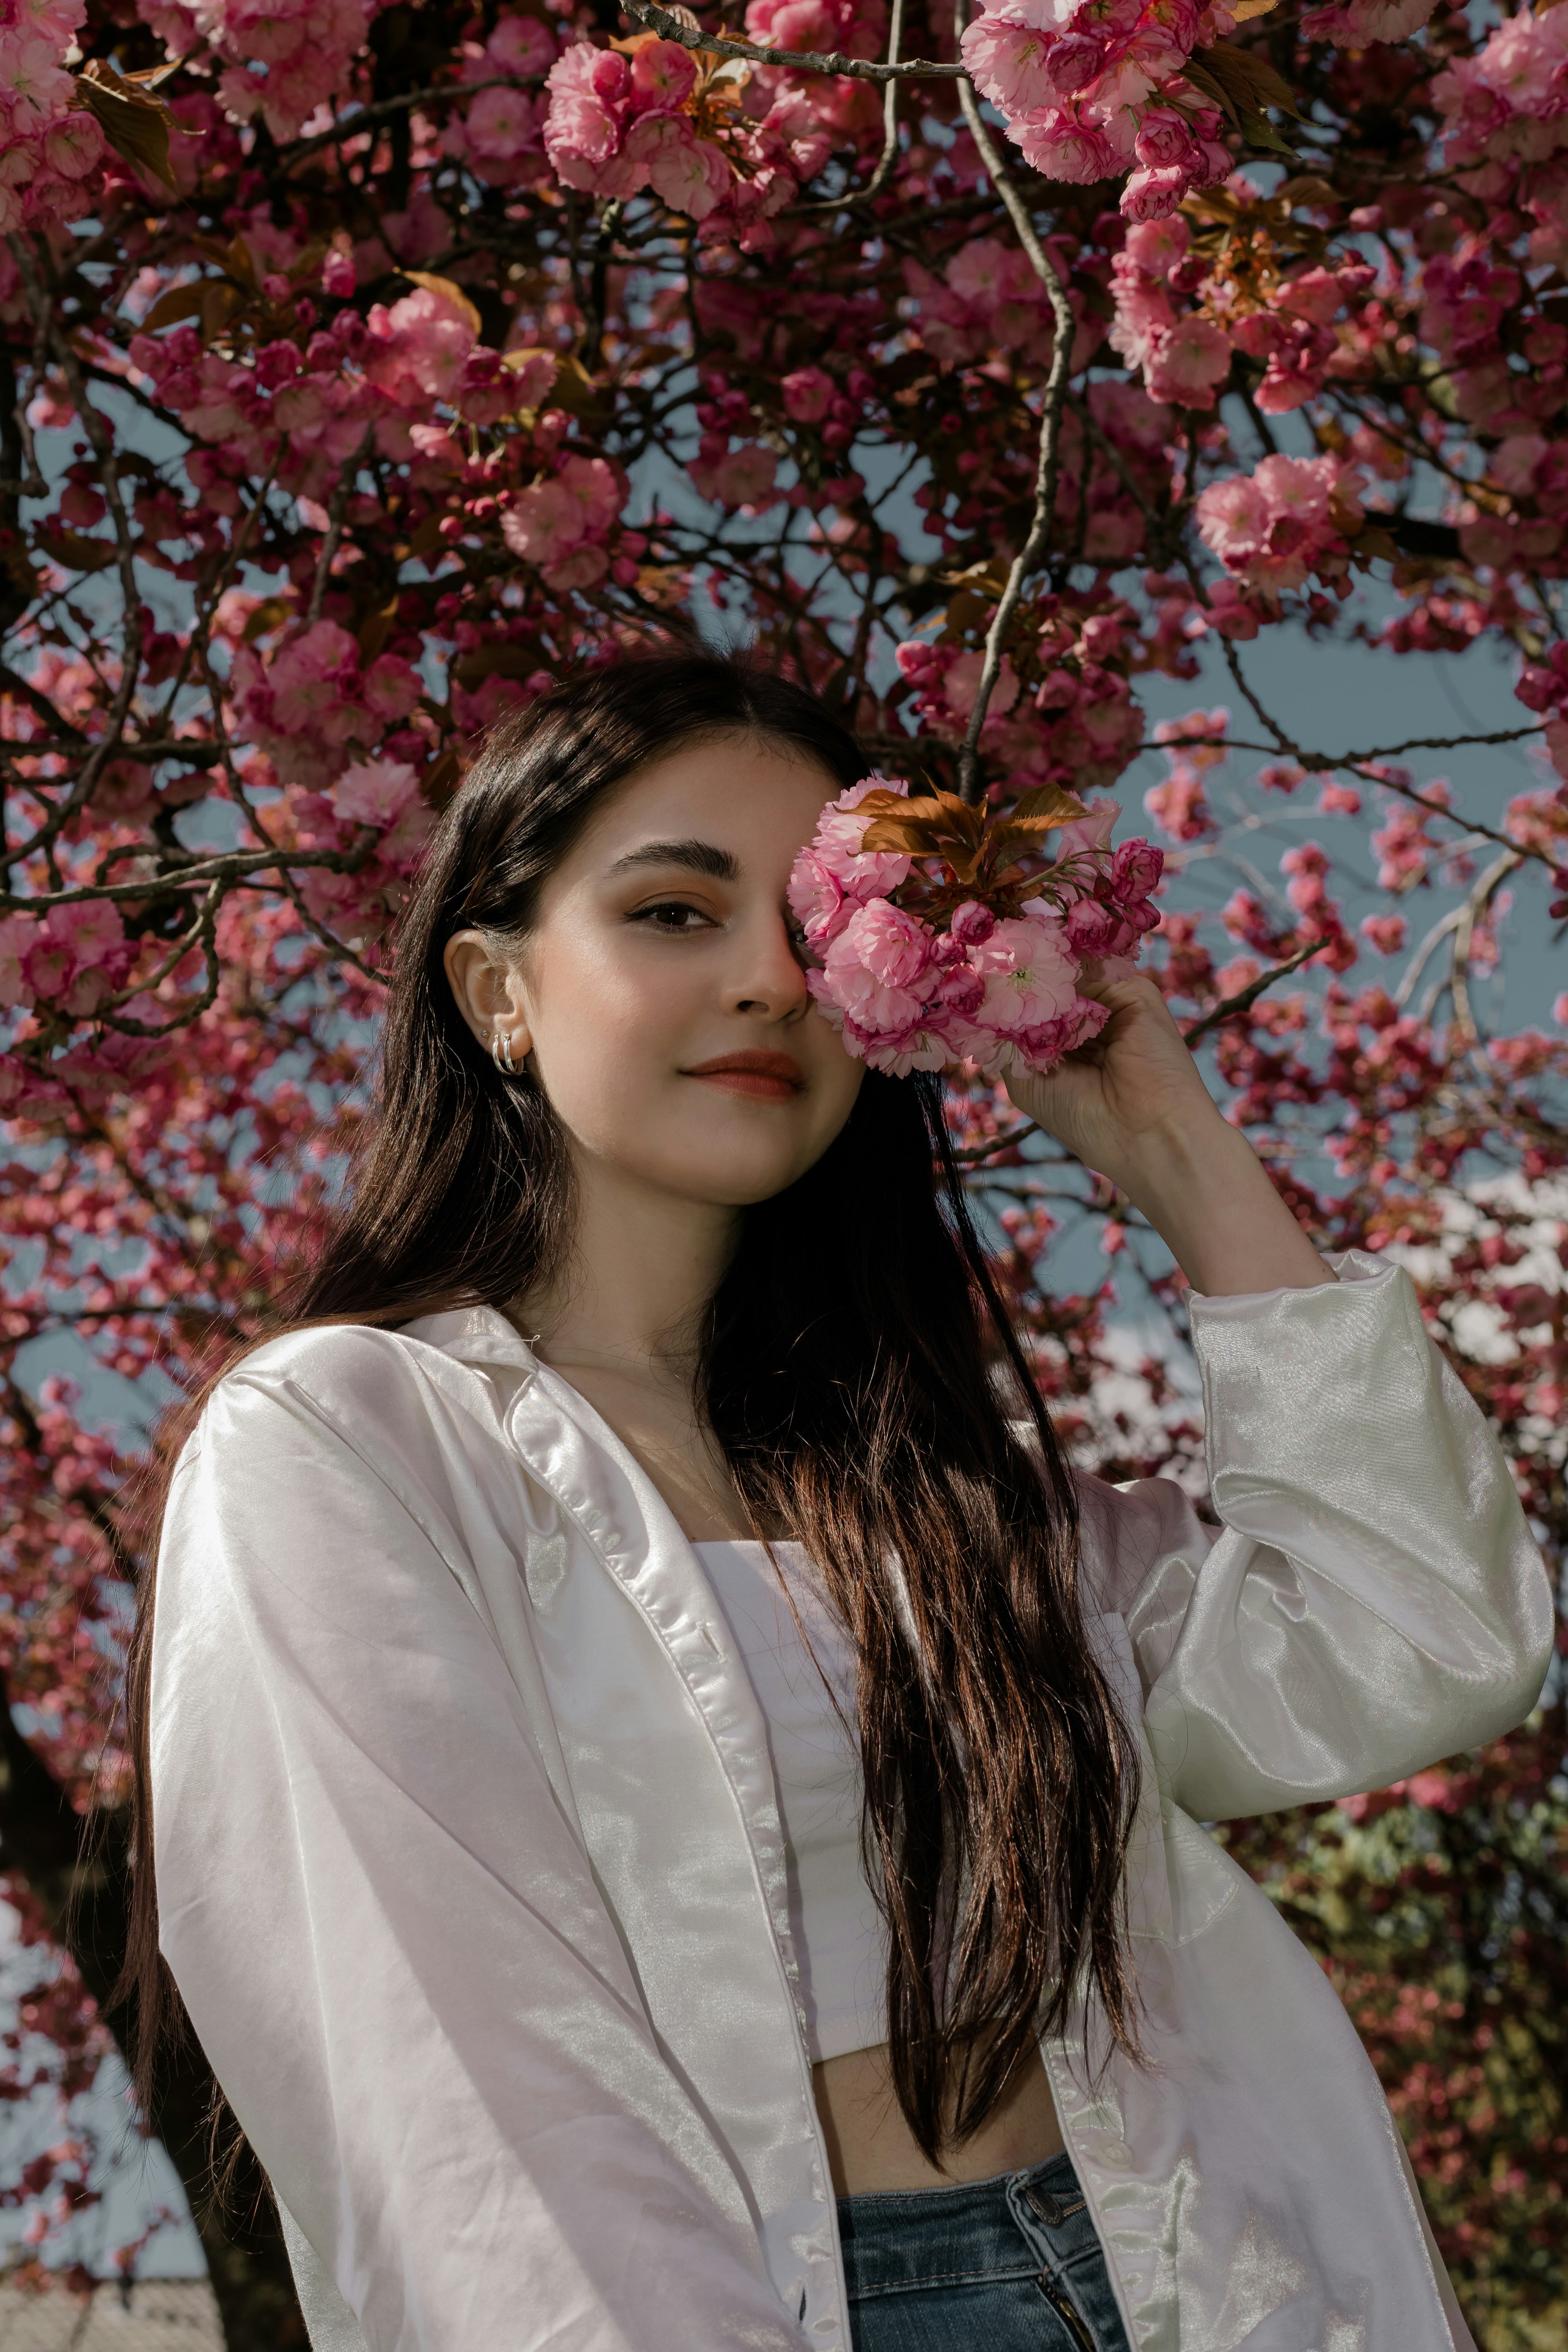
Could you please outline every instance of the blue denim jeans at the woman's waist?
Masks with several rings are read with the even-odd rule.
[[[856,2352],[1128,2352],[1065,2154],[954,2190],[839,2197]]]

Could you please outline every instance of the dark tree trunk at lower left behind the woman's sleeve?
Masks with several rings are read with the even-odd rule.
[[[0,1867],[42,1905],[49,1933],[75,1962],[99,2011],[120,1973],[127,1933],[125,1818],[85,1820],[12,1719],[0,1679]],[[277,2211],[261,2169],[242,2157],[223,2204],[214,2192],[207,2067],[190,2044],[172,2051],[158,2082],[150,2129],[186,2185],[207,2256],[228,2352],[296,2352],[306,2324],[294,2298]]]

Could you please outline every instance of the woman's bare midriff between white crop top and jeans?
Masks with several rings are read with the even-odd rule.
[[[1020,2058],[1001,2105],[961,2147],[945,2150],[938,2171],[903,2119],[889,2079],[886,2044],[846,2051],[811,2067],[832,2187],[839,2197],[889,2190],[950,2190],[964,2180],[1018,2173],[1063,2147],[1056,2100],[1037,2053]]]

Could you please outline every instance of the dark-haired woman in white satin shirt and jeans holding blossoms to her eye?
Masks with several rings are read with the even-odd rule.
[[[661,656],[444,816],[353,1204],[174,1475],[143,2018],[160,1933],[334,2352],[1467,2345],[1194,1816],[1533,1705],[1507,1468],[1126,978],[1013,1098],[1194,1284],[1222,1524],[1067,1470],[936,1082],[806,993],[785,882],[863,774]]]

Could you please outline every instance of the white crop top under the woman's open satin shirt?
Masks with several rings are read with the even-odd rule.
[[[860,1755],[849,1637],[799,1543],[776,1543],[778,1569],[811,1637],[802,1642],[762,1543],[693,1545],[769,1726],[811,2058],[886,2042],[886,1926],[860,1867]],[[844,1708],[835,1715],[823,1689]]]

